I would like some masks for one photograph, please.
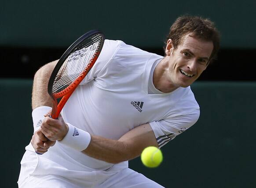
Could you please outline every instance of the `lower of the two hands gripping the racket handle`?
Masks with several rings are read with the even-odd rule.
[[[30,142],[37,153],[44,154],[51,146],[55,145],[56,141],[48,140],[41,129],[38,129],[35,131]]]

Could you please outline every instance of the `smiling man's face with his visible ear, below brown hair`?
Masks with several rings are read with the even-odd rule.
[[[168,60],[168,76],[175,87],[188,87],[206,69],[213,50],[211,41],[204,41],[185,35],[176,50],[172,40],[166,46]]]

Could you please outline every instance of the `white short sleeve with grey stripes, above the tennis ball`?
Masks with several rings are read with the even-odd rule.
[[[194,125],[199,115],[200,110],[197,109],[188,115],[169,117],[164,120],[150,122],[159,148]]]

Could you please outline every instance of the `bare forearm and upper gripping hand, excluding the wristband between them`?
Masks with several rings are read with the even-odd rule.
[[[57,120],[45,117],[41,131],[50,140],[61,141],[66,135],[66,126],[61,116]],[[158,147],[158,144],[150,124],[143,124],[128,131],[118,140],[91,135],[91,142],[82,153],[108,163],[120,163],[140,156],[148,146]]]

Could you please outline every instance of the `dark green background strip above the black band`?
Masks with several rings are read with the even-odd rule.
[[[69,46],[84,32],[98,28],[107,38],[140,47],[161,47],[180,14],[216,21],[223,47],[255,48],[253,0],[1,0],[0,45]]]

